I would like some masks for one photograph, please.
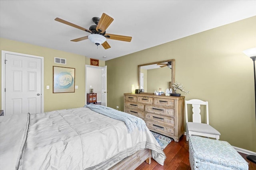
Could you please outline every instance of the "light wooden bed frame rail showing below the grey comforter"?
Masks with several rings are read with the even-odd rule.
[[[142,149],[138,150],[136,153],[132,154],[131,156],[128,156],[127,158],[124,158],[121,162],[110,168],[110,170],[134,170],[142,162],[146,161],[146,163],[151,164],[151,150],[150,149]]]

